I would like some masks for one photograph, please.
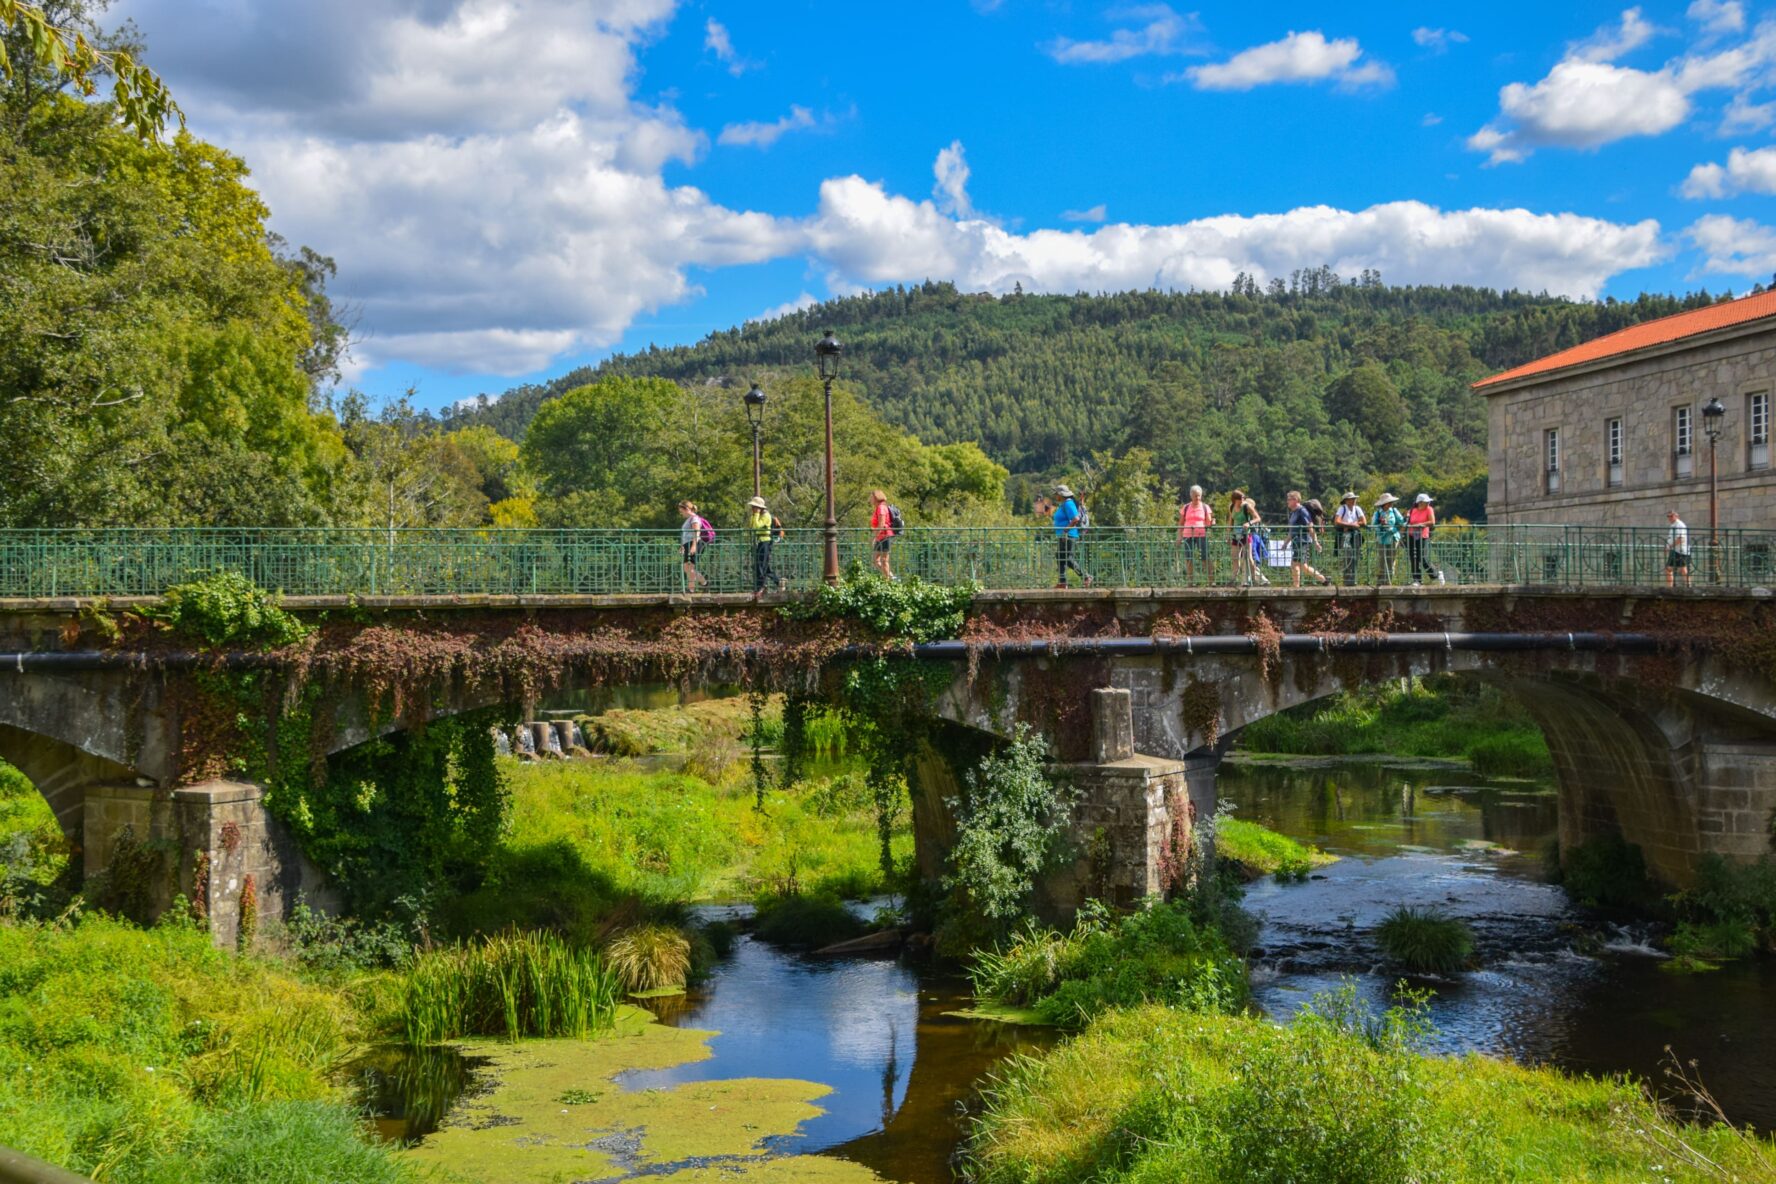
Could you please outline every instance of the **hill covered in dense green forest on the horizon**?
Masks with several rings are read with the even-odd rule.
[[[684,383],[812,367],[831,328],[844,380],[927,442],[975,440],[1016,472],[1153,453],[1167,481],[1298,483],[1472,474],[1487,417],[1469,383],[1636,321],[1710,304],[1698,293],[1579,304],[1481,288],[1344,282],[1321,268],[1261,291],[966,295],[952,284],[831,300],[773,321],[650,348],[520,387],[453,422],[517,437],[536,407],[602,375]],[[1094,454],[1098,460],[1094,462]]]

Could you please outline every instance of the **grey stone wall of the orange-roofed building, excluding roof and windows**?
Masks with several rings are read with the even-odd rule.
[[[1751,467],[1749,396],[1776,401],[1776,328],[1552,376],[1488,394],[1487,520],[1664,527],[1675,508],[1691,538],[1709,525],[1709,438],[1701,408],[1721,399],[1716,446],[1723,527],[1776,527],[1776,469]],[[1673,412],[1691,408],[1691,474],[1675,476]],[[1621,419],[1621,485],[1607,483],[1606,424]],[[1543,440],[1559,430],[1561,490],[1545,486]]]

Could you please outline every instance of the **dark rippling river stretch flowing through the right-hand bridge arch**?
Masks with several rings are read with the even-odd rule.
[[[1481,1051],[1657,1081],[1666,1046],[1700,1062],[1728,1115],[1776,1127],[1776,967],[1671,975],[1637,930],[1597,930],[1545,882],[1552,786],[1465,769],[1368,762],[1222,765],[1236,815],[1341,856],[1305,884],[1254,884],[1252,989],[1279,1019],[1355,980],[1373,1005],[1394,975],[1373,941],[1396,905],[1437,905],[1474,928],[1481,969],[1433,989],[1440,1051]]]

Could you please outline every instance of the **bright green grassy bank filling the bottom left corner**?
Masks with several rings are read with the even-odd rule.
[[[0,923],[0,1145],[108,1184],[408,1179],[337,1069],[359,1001],[195,927]]]

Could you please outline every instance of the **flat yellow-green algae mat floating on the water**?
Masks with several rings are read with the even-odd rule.
[[[437,1133],[407,1152],[462,1184],[570,1184],[646,1175],[678,1184],[744,1180],[867,1184],[858,1164],[822,1156],[769,1156],[773,1136],[821,1115],[831,1092],[815,1081],[737,1077],[668,1090],[623,1090],[616,1077],[710,1056],[716,1033],[666,1028],[622,1006],[597,1040],[465,1044],[487,1058],[490,1088],[464,1097]],[[574,1099],[567,1102],[565,1099]]]

